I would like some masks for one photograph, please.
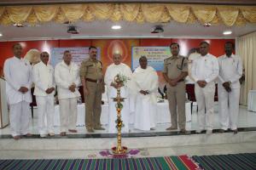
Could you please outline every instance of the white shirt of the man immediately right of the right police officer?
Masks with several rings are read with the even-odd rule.
[[[191,76],[195,82],[213,82],[218,77],[218,59],[212,54],[200,56],[192,63]]]

